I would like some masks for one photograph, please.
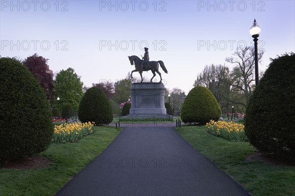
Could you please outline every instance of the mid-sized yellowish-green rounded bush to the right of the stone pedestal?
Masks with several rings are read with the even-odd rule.
[[[181,108],[181,120],[184,123],[204,125],[210,120],[218,121],[220,116],[220,106],[206,87],[194,87],[184,99]]]

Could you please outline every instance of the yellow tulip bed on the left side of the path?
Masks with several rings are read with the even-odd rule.
[[[75,142],[93,132],[94,123],[62,123],[55,125],[52,141],[56,144]]]

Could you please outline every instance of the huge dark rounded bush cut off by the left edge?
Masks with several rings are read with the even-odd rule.
[[[20,62],[0,58],[0,161],[29,157],[51,143],[50,105],[37,80]]]

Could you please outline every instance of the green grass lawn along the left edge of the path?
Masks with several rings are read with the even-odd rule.
[[[42,156],[54,161],[47,169],[0,169],[0,196],[54,196],[117,137],[112,127],[94,127],[94,133],[76,143],[52,144]]]

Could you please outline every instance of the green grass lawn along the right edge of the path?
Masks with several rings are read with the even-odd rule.
[[[246,162],[246,157],[256,152],[255,147],[210,135],[205,126],[181,126],[177,132],[252,196],[295,196],[294,166]]]

